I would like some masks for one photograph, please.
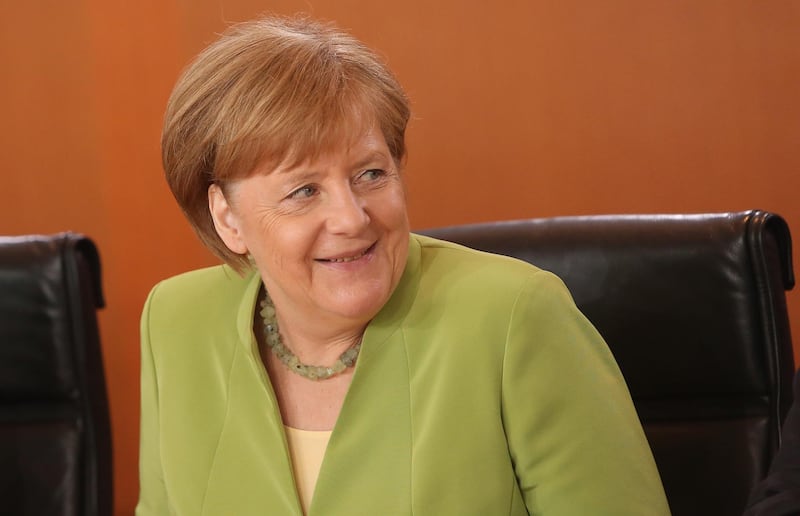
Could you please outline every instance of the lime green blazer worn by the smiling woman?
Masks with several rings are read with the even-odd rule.
[[[136,514],[300,515],[253,336],[256,273],[166,280],[142,315]],[[561,281],[411,235],[309,514],[669,514],[611,353]]]

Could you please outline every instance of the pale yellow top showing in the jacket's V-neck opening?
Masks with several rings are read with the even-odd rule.
[[[319,468],[331,438],[331,430],[300,430],[284,425],[286,441],[289,444],[289,455],[292,457],[294,482],[303,514],[308,514],[314,486],[317,485]]]

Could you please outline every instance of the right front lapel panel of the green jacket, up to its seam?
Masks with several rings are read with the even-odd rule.
[[[364,334],[309,516],[412,512],[412,421],[402,322],[416,296],[419,263],[420,246],[412,238],[403,277]]]

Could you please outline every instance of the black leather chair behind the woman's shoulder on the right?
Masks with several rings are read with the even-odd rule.
[[[791,402],[782,218],[560,217],[423,233],[558,274],[625,375],[673,514],[742,513]]]

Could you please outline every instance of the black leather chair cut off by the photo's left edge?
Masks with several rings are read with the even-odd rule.
[[[0,237],[0,512],[110,516],[100,260],[75,234]]]

